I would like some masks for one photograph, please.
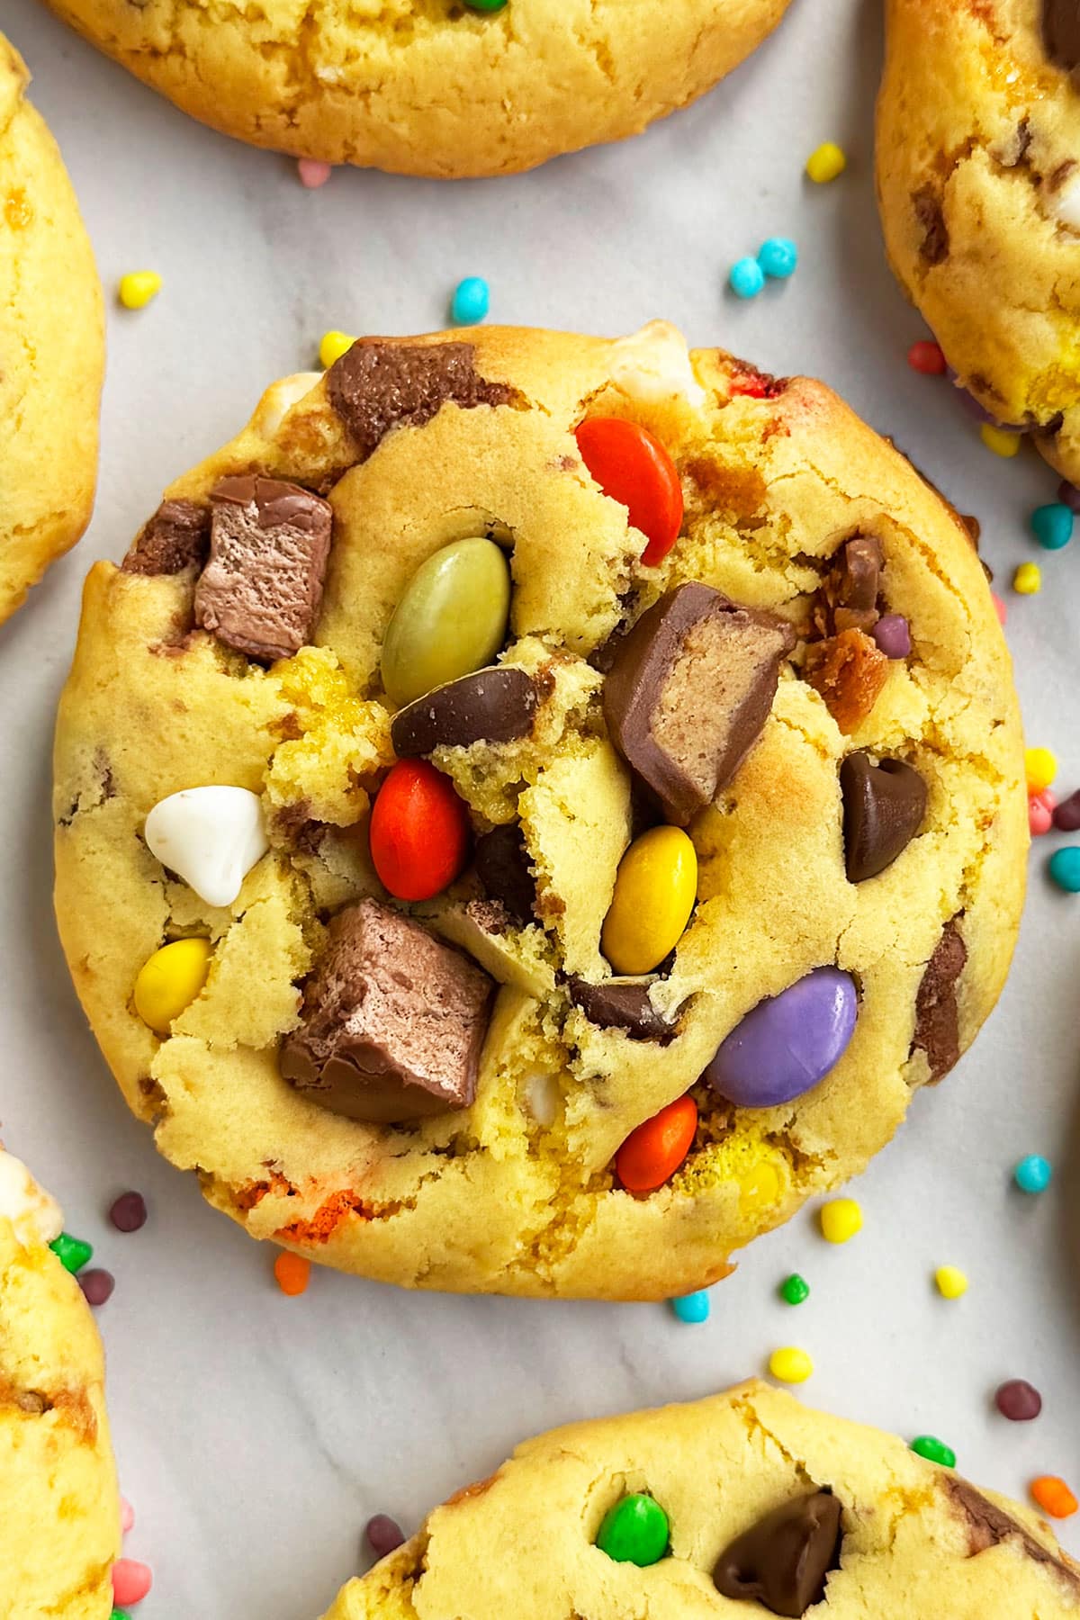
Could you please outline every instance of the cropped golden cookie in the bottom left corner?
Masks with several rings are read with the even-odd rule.
[[[105,1366],[49,1243],[60,1209],[0,1149],[0,1615],[108,1620],[120,1497]]]

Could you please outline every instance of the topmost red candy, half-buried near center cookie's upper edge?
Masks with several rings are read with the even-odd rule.
[[[678,471],[659,439],[636,421],[589,416],[576,434],[581,460],[606,496],[627,507],[648,539],[641,561],[662,562],[678,538],[683,492]]]

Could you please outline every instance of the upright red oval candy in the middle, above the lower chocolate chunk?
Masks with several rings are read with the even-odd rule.
[[[427,760],[400,760],[371,810],[371,859],[400,901],[429,901],[465,868],[470,820],[453,782]]]

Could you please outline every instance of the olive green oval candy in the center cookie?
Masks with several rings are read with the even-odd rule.
[[[494,539],[455,539],[419,565],[382,643],[397,708],[491,664],[507,638],[510,565]]]

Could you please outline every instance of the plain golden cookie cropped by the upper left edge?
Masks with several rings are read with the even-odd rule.
[[[102,292],[63,160],[0,34],[0,624],[91,520]]]

